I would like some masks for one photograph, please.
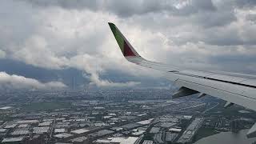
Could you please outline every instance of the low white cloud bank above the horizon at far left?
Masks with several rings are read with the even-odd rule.
[[[0,72],[0,89],[13,90],[13,89],[25,89],[25,90],[52,90],[66,88],[66,85],[62,82],[38,82],[33,78],[25,78],[20,75],[6,74],[6,72]]]

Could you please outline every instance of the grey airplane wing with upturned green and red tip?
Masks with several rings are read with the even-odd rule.
[[[160,62],[151,62],[142,58],[134,47],[122,35],[117,26],[109,23],[114,38],[118,42],[123,56],[130,62],[165,72],[166,78],[181,88],[173,98],[191,94],[206,94],[226,101],[225,107],[237,104],[251,110],[256,110],[256,76],[227,72],[188,70],[178,66],[167,66]],[[256,123],[247,133],[248,138],[256,137]]]

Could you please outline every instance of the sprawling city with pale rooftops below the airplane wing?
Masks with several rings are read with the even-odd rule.
[[[194,143],[237,134],[256,113],[170,90],[10,91],[0,97],[2,143]]]

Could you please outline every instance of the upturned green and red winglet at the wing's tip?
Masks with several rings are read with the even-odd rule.
[[[133,46],[131,46],[130,43],[127,41],[127,39],[122,35],[120,30],[118,30],[118,27],[111,22],[109,22],[109,25],[110,25],[110,29],[112,30],[112,33],[114,34],[114,38],[118,42],[118,46],[120,47],[120,50],[122,51],[123,56],[140,57],[140,55],[134,50]]]

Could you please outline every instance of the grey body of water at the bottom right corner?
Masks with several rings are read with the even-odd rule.
[[[238,133],[232,132],[222,132],[219,134],[214,134],[206,138],[194,142],[194,144],[251,144],[256,142],[256,138],[246,138],[246,133],[248,130],[240,130]]]

